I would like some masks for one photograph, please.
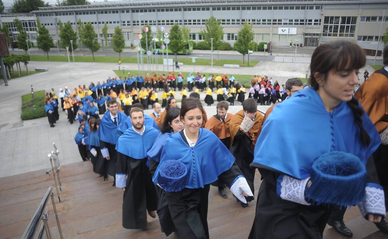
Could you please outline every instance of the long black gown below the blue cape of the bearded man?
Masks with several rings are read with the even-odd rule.
[[[117,153],[117,173],[126,174],[123,198],[123,227],[147,229],[147,211],[157,209],[156,191],[151,173],[146,165],[147,158],[135,159]]]

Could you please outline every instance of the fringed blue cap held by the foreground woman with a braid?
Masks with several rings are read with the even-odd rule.
[[[356,205],[364,199],[366,168],[350,153],[332,151],[317,158],[310,169],[312,184],[305,197],[315,205]]]

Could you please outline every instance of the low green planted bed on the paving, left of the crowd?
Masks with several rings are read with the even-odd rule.
[[[31,73],[31,72],[30,72]],[[34,110],[33,105],[36,109]],[[31,93],[22,95],[22,120],[36,119],[46,116],[45,111],[45,91],[35,91],[34,100],[32,100]]]

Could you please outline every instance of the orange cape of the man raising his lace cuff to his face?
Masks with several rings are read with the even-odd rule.
[[[239,131],[240,126],[241,126],[241,122],[244,119],[244,117],[245,117],[245,115],[244,115],[243,110],[240,110],[235,115],[233,115],[232,120],[230,120],[230,126],[229,126],[230,145],[233,145],[234,136]],[[257,111],[256,117],[255,117],[255,124],[252,126],[252,128],[248,132],[245,132],[247,134],[247,136],[249,136],[249,139],[251,139],[251,141],[252,141],[252,145],[251,145],[252,150],[255,149],[256,140],[259,137],[260,123],[262,122],[262,120],[263,120],[262,113]]]

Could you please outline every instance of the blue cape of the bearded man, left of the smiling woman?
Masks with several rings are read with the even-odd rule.
[[[152,127],[144,126],[143,135],[138,134],[132,127],[120,136],[116,144],[116,150],[128,157],[143,159],[147,157],[147,151],[151,149],[159,131]]]

